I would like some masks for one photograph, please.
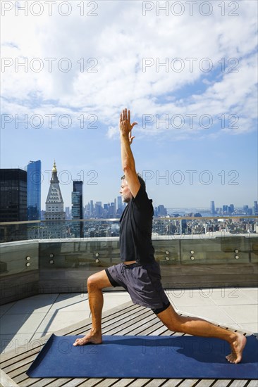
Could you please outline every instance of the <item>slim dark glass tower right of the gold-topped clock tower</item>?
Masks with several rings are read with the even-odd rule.
[[[82,205],[82,184],[81,180],[73,181],[72,192],[72,219],[83,219]],[[73,222],[73,234],[75,238],[83,238],[83,222]]]

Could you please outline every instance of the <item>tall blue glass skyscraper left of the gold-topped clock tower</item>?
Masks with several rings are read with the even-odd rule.
[[[27,220],[40,220],[41,213],[41,161],[27,165]]]

